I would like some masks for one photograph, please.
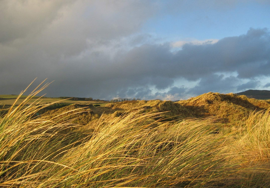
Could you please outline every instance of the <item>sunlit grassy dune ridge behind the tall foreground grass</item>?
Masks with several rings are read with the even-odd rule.
[[[250,99],[236,94],[207,93],[189,100],[179,102],[162,100],[138,100],[107,103],[106,106],[91,106],[86,104],[74,104],[64,108],[58,108],[42,114],[43,118],[52,118],[64,111],[76,108],[87,108],[88,112],[70,115],[72,123],[84,125],[82,132],[91,132],[102,121],[111,121],[126,111],[142,110],[143,112],[164,112],[154,119],[165,121],[178,121],[189,117],[216,117],[219,124],[217,129],[238,129],[250,113],[270,108],[270,104],[264,100]],[[222,131],[222,130],[221,130]]]

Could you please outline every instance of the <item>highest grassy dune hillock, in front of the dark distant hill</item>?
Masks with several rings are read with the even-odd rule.
[[[246,119],[253,111],[270,108],[267,101],[232,93],[209,92],[178,103],[193,111],[195,117],[215,116],[229,125],[237,124],[239,121]]]

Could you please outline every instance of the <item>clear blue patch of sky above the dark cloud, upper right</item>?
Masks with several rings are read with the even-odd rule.
[[[179,7],[179,12],[152,17],[145,22],[141,31],[155,33],[164,41],[177,41],[186,38],[222,39],[244,34],[250,27],[270,27],[270,4],[242,2],[224,9],[194,6],[190,11],[183,11],[184,8]]]

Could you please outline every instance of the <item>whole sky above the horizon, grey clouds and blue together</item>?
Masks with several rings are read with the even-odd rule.
[[[0,0],[0,94],[181,100],[270,90],[268,0]],[[31,88],[29,88],[29,91]]]

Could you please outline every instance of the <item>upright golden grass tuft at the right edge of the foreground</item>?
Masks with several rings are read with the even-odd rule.
[[[245,187],[270,184],[270,109],[254,111],[244,123],[238,143]]]

